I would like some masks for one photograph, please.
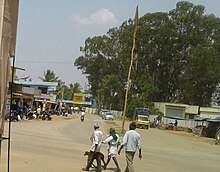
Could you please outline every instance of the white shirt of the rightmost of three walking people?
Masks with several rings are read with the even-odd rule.
[[[127,152],[136,152],[141,148],[140,135],[135,130],[126,131],[121,145]]]

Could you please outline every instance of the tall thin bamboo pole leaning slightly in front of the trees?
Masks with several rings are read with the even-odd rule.
[[[138,6],[136,7],[136,13],[135,13],[135,19],[134,19],[133,46],[131,49],[131,61],[130,61],[130,66],[128,70],[127,85],[125,88],[125,102],[124,102],[123,121],[122,121],[122,133],[124,133],[125,114],[127,110],[127,100],[128,100],[128,90],[131,85],[130,77],[131,77],[131,69],[132,69],[132,65],[134,61],[134,49],[135,49],[135,39],[136,39],[137,28],[138,28]]]

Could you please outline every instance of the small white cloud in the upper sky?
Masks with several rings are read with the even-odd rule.
[[[103,8],[95,13],[91,14],[87,18],[83,18],[77,15],[71,16],[71,20],[79,25],[102,25],[118,23],[114,14],[106,8]]]

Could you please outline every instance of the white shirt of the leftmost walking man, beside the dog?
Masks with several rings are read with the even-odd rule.
[[[102,132],[96,129],[91,137],[91,142],[92,142],[91,151],[95,151],[95,145],[97,144],[98,146],[96,152],[100,152],[102,145],[102,138],[103,138]]]

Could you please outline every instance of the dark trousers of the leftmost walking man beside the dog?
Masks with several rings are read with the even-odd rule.
[[[89,169],[92,166],[94,159],[96,159],[96,162],[97,162],[96,171],[97,172],[102,171],[100,152],[90,151],[90,153],[91,153],[91,156],[88,157],[86,169]]]

